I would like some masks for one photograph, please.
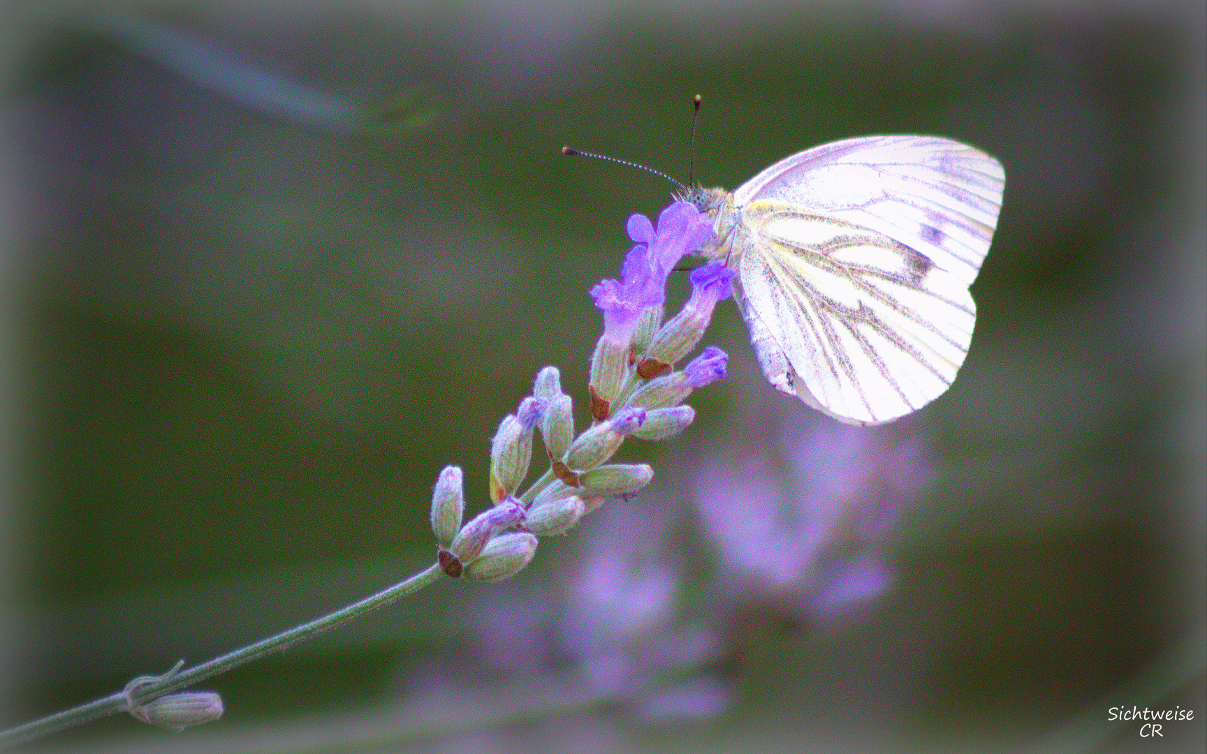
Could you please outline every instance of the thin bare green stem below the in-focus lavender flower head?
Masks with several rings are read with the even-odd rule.
[[[334,613],[323,615],[316,620],[311,620],[308,624],[296,626],[288,631],[282,631],[276,636],[270,636],[266,639],[256,642],[255,644],[235,649],[234,651],[215,657],[209,662],[203,662],[202,665],[180,672],[169,672],[156,680],[140,684],[129,694],[124,690],[118,691],[117,694],[103,696],[101,699],[88,702],[87,705],[81,705],[71,709],[64,709],[63,712],[54,713],[40,720],[34,720],[33,723],[27,723],[24,725],[18,725],[17,727],[2,731],[0,732],[0,749],[14,747],[19,743],[41,738],[42,736],[47,736],[60,730],[66,730],[69,727],[82,725],[111,714],[126,712],[129,709],[130,702],[135,705],[144,705],[153,699],[163,696],[164,694],[177,691],[199,680],[225,673],[229,670],[239,667],[240,665],[246,665],[252,660],[258,660],[264,655],[287,649],[298,642],[314,638],[320,633],[371,613],[381,606],[390,604],[401,597],[416,592],[420,589],[436,583],[442,574],[443,572],[441,571],[439,565],[433,563],[432,566],[428,566],[426,571],[416,573],[406,581],[401,581],[389,589],[384,589],[383,591],[366,597],[360,602],[349,604],[345,608],[338,609]]]

